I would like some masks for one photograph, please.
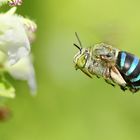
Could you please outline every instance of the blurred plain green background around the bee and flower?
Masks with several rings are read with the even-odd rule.
[[[38,25],[33,43],[38,95],[15,81],[12,117],[1,140],[138,140],[140,93],[122,92],[75,71],[78,32],[85,47],[106,42],[140,56],[139,0],[24,0],[18,13]]]

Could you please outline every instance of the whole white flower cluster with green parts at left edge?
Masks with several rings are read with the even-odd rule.
[[[35,94],[36,80],[30,44],[35,38],[37,25],[16,14],[16,6],[21,5],[22,0],[0,0],[0,5],[4,3],[13,7],[6,13],[0,13],[0,96],[15,96],[15,89],[6,80],[5,72],[17,80],[26,80],[31,93]]]

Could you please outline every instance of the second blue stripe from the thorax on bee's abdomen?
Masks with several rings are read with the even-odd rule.
[[[129,70],[126,72],[126,76],[129,76],[133,71],[134,69],[137,67],[139,63],[139,59],[137,57],[134,57],[134,60],[129,68]]]

